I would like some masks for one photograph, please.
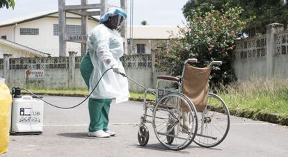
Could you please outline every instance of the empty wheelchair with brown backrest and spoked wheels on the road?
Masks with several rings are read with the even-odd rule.
[[[182,77],[157,76],[156,89],[145,90],[144,113],[138,130],[138,142],[145,146],[149,140],[146,123],[152,124],[159,142],[171,150],[181,150],[195,142],[200,147],[215,147],[223,142],[230,129],[230,113],[221,97],[209,92],[209,76],[213,65],[193,67],[197,59],[184,62]],[[163,88],[161,82],[170,82],[176,88]],[[148,100],[147,94],[156,96]]]

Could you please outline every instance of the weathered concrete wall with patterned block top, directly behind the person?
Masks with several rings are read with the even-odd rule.
[[[127,76],[146,88],[154,88],[155,83],[152,76],[154,68],[152,68],[150,55],[123,56],[121,59],[125,65]],[[40,69],[44,72],[44,80],[32,83],[33,85],[41,88],[86,88],[79,70],[81,57],[75,57],[75,53],[70,53],[69,57],[62,58],[12,58],[10,55],[4,55],[3,60],[3,63],[8,61],[9,66],[0,69],[0,76],[6,78],[8,85],[22,87],[29,85],[31,83],[27,81],[26,70]],[[3,66],[3,63],[0,67]],[[72,65],[73,63],[74,65]],[[8,74],[4,74],[4,71]],[[143,91],[143,88],[129,81],[129,90]]]

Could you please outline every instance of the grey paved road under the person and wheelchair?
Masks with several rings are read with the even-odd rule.
[[[83,98],[45,97],[58,106],[72,106]],[[288,127],[232,117],[230,132],[223,143],[212,149],[192,143],[182,151],[165,149],[150,127],[150,140],[138,145],[137,131],[143,106],[129,101],[112,104],[111,138],[87,137],[88,103],[70,110],[45,105],[42,135],[10,136],[9,151],[1,156],[288,156]]]

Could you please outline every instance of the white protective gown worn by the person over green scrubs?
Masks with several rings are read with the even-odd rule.
[[[124,54],[123,42],[118,31],[112,30],[99,24],[95,26],[88,36],[88,53],[93,63],[93,72],[89,80],[89,92],[95,88],[97,81],[104,74],[106,69],[118,66],[120,72],[125,73],[124,67],[119,60]],[[98,87],[90,96],[94,99],[116,98],[116,104],[127,101],[129,98],[128,81],[126,77],[121,76],[109,70],[104,74]]]

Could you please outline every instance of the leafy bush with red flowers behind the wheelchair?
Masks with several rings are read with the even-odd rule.
[[[231,68],[234,39],[246,22],[240,19],[241,8],[215,10],[206,13],[195,10],[184,28],[179,28],[179,38],[172,38],[170,49],[158,49],[158,67],[173,76],[182,74],[184,60],[197,58],[196,67],[207,67],[213,60],[223,61],[221,67],[212,67],[211,83],[227,84],[234,81]]]

